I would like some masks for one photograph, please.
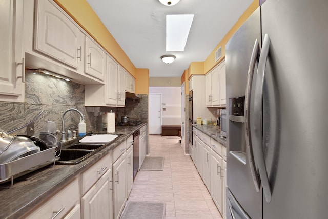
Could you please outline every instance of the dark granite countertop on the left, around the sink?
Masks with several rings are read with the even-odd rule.
[[[15,179],[9,188],[0,188],[0,218],[22,217],[144,125],[146,123],[139,126],[116,126],[115,133],[122,135],[85,161],[76,165],[48,165]],[[0,186],[9,185],[5,183]]]

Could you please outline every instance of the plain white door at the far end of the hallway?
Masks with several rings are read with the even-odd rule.
[[[162,94],[149,94],[149,134],[161,134],[161,99]]]

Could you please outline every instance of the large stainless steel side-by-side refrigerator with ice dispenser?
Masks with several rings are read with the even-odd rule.
[[[327,218],[327,10],[267,0],[226,45],[227,218]]]

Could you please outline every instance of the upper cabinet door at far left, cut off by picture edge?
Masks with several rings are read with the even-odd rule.
[[[0,4],[0,101],[24,102],[23,0]],[[22,63],[19,65],[18,63]],[[1,95],[9,96],[1,96]]]

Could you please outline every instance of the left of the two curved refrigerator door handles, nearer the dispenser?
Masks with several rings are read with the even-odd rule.
[[[257,172],[256,163],[254,159],[254,152],[253,152],[253,145],[252,145],[252,138],[251,138],[251,125],[250,125],[250,106],[251,106],[251,91],[252,91],[252,82],[254,77],[254,68],[255,63],[259,59],[260,56],[260,46],[258,43],[258,40],[255,40],[252,55],[251,55],[251,61],[248,69],[248,75],[247,75],[247,83],[246,83],[246,92],[245,92],[245,109],[244,109],[244,115],[245,115],[245,138],[246,138],[246,146],[247,146],[247,157],[249,160],[249,165],[251,168],[251,174],[255,186],[255,190],[257,192],[260,191],[261,186],[261,179],[259,177],[259,174]]]

